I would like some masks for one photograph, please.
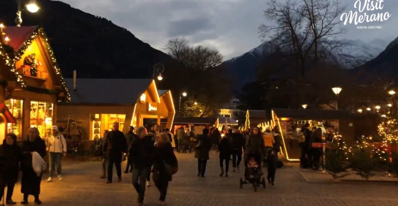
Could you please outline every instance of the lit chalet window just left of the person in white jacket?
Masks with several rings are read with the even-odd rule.
[[[51,136],[53,103],[31,101],[30,126],[37,127],[42,138]]]

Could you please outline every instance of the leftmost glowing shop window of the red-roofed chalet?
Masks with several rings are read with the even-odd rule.
[[[9,99],[5,103],[16,120],[16,124],[7,123],[7,133],[12,132],[18,137],[18,139],[21,139],[23,100]]]

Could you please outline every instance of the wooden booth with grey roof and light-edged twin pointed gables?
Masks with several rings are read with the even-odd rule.
[[[57,125],[73,119],[82,140],[101,137],[114,122],[127,133],[129,126],[143,126],[145,119],[167,119],[171,129],[175,108],[170,91],[158,91],[152,79],[65,79],[71,102],[58,105]],[[159,95],[161,94],[161,95]]]

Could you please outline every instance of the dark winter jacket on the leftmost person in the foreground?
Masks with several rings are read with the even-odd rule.
[[[8,183],[16,183],[21,160],[22,150],[16,142],[14,145],[8,145],[4,140],[0,145],[0,178]]]

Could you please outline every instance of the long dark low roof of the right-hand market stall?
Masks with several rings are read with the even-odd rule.
[[[350,114],[344,110],[325,109],[272,109],[278,117],[311,120],[342,120],[349,119]]]

